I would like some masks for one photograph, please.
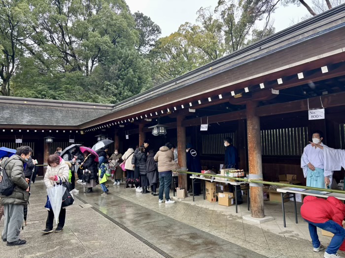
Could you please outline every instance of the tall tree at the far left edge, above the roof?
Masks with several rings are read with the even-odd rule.
[[[0,1],[0,86],[3,96],[10,95],[10,80],[23,54],[20,42],[26,39],[24,21],[28,11],[25,0]]]

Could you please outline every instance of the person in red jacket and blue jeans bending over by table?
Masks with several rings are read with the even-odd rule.
[[[345,218],[345,204],[332,196],[327,200],[307,196],[303,200],[301,215],[309,224],[313,250],[319,252],[324,249],[317,235],[317,227],[334,234],[323,257],[338,257],[337,252],[345,239],[345,229],[342,226]]]

